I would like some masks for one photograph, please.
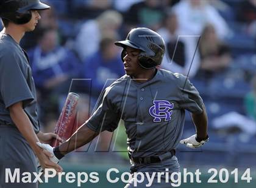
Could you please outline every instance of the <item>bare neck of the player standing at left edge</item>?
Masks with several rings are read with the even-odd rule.
[[[9,24],[7,28],[4,27],[3,32],[5,34],[12,36],[12,38],[18,44],[20,44],[20,41],[25,34],[24,29],[22,27],[19,27],[19,25],[15,25],[15,24]]]

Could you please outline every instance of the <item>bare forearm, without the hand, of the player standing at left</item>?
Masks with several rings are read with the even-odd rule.
[[[40,153],[40,147],[37,146],[37,142],[39,141],[35,131],[33,129],[32,123],[30,122],[29,117],[24,112],[22,107],[22,102],[18,102],[9,107],[10,117],[12,118],[13,123],[15,123],[18,130],[20,130],[21,135],[29,143],[30,147],[34,150],[34,152]]]

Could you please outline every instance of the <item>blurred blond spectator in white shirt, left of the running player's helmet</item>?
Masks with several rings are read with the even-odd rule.
[[[98,51],[102,36],[118,35],[118,29],[122,22],[122,15],[115,10],[107,10],[96,19],[86,21],[74,44],[80,59],[84,61],[85,58]]]

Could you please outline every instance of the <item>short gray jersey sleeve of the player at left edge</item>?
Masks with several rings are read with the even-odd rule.
[[[5,108],[20,101],[26,107],[34,100],[19,61],[22,60],[12,52],[0,55],[0,93]]]

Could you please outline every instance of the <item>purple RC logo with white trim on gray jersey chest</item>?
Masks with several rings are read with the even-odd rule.
[[[149,108],[149,113],[154,117],[154,122],[161,122],[162,118],[165,118],[165,121],[171,120],[174,103],[171,104],[169,101],[159,100],[153,101],[153,104],[154,106]]]

